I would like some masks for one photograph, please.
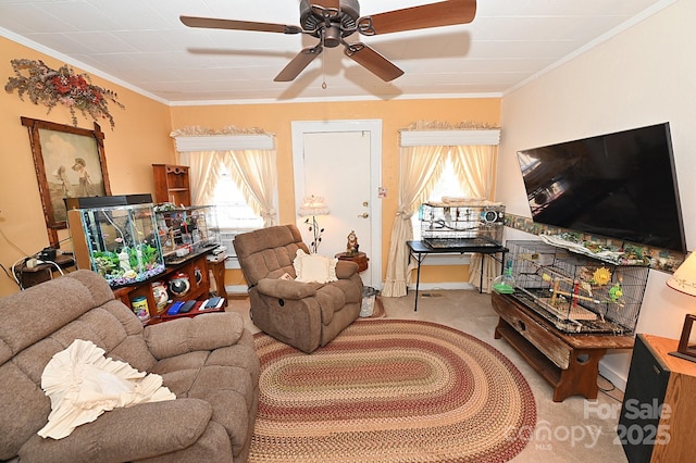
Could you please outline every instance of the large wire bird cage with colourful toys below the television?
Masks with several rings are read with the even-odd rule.
[[[569,334],[632,335],[648,267],[616,265],[542,241],[507,241],[517,300]]]

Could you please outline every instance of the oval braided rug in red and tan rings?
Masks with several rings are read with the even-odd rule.
[[[444,325],[357,321],[311,354],[254,335],[249,462],[505,462],[536,406],[518,368]]]

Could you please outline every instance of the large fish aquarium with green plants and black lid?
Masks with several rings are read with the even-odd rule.
[[[164,259],[150,195],[66,200],[78,268],[103,276],[112,288],[164,272]]]

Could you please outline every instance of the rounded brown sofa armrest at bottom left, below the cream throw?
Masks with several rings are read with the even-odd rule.
[[[192,446],[212,417],[210,403],[176,399],[117,408],[77,426],[63,439],[34,435],[20,449],[22,461],[134,461]]]

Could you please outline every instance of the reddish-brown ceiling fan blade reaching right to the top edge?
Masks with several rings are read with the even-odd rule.
[[[370,36],[451,26],[471,23],[475,15],[476,0],[440,1],[361,17],[358,30]]]

